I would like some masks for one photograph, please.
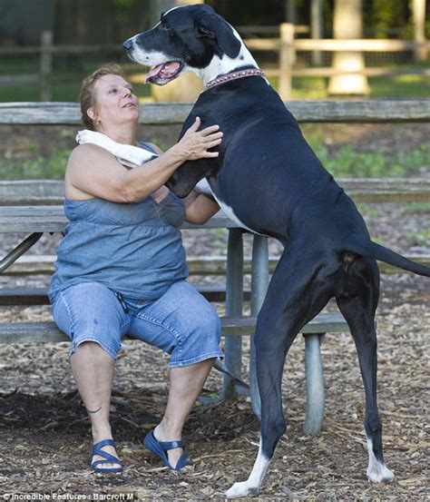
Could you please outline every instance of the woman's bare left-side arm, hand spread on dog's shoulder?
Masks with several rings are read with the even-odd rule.
[[[191,125],[181,141],[157,159],[132,170],[118,162],[112,153],[91,143],[76,147],[67,164],[66,197],[80,192],[84,198],[100,197],[112,202],[137,202],[156,192],[181,163],[187,160],[217,157],[208,152],[221,142],[218,125],[198,131],[200,119]]]

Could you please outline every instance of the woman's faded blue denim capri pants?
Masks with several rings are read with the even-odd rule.
[[[72,341],[71,356],[93,341],[116,359],[128,335],[170,354],[171,368],[222,357],[217,311],[187,281],[173,283],[158,300],[118,298],[99,282],[82,282],[57,294],[53,314]]]

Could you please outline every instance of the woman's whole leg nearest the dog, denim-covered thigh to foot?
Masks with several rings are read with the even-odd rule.
[[[154,436],[162,442],[179,441],[213,361],[222,355],[217,311],[189,283],[177,282],[138,311],[129,334],[171,354],[169,399]],[[181,453],[182,448],[168,451],[173,468]]]

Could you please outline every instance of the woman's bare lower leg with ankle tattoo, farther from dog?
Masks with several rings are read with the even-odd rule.
[[[98,343],[83,342],[70,359],[76,387],[91,419],[93,444],[112,439],[109,410],[111,407],[112,381],[115,361]],[[115,448],[103,447],[103,451],[118,457]],[[98,455],[94,460],[103,460]],[[118,464],[101,464],[99,468],[118,468]]]

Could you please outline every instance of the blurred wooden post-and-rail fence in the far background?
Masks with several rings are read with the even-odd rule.
[[[242,33],[256,33],[256,29],[244,26]],[[262,33],[261,30],[258,30]],[[264,31],[264,30],[263,30]],[[269,77],[279,77],[279,94],[283,99],[290,99],[292,78],[305,77],[330,77],[337,74],[363,74],[366,76],[390,76],[396,74],[423,74],[430,75],[430,69],[392,69],[388,67],[363,68],[357,71],[338,70],[331,67],[305,67],[296,68],[295,54],[300,52],[319,53],[327,52],[416,52],[418,49],[429,50],[430,42],[418,44],[406,40],[334,40],[334,39],[306,39],[296,38],[296,34],[307,33],[306,26],[296,26],[283,23],[279,26],[279,37],[276,38],[245,38],[244,42],[251,51],[276,52],[279,54],[279,68],[269,69],[266,74]],[[268,27],[268,33],[273,33],[273,27]],[[39,46],[0,48],[0,56],[17,54],[40,54],[40,67],[38,74],[6,75],[0,76],[0,84],[39,84],[40,100],[51,101],[53,84],[53,59],[55,54],[97,54],[100,52],[112,52],[123,54],[121,44],[95,44],[73,45],[53,44],[52,32],[45,31],[42,34]]]

